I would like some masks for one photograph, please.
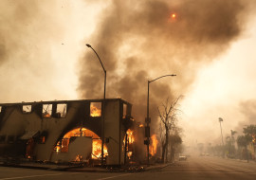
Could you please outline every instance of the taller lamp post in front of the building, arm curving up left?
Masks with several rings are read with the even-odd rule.
[[[101,117],[102,117],[102,130],[101,130],[101,166],[103,166],[103,157],[104,157],[104,138],[105,138],[105,135],[104,135],[104,126],[105,126],[105,99],[106,99],[106,70],[103,66],[103,63],[101,62],[101,58],[100,56],[98,55],[98,53],[94,50],[94,48],[89,45],[89,44],[86,44],[87,47],[91,48],[95,54],[97,55],[100,63],[101,63],[101,67],[104,71],[104,97],[103,97],[103,108],[102,108],[102,113],[101,113]]]

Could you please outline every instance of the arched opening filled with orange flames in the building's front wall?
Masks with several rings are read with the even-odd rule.
[[[101,158],[101,138],[91,130],[86,128],[76,128],[67,132],[56,144],[54,152],[56,153],[68,153],[70,143],[76,137],[89,137],[92,140],[91,158]],[[80,147],[81,148],[81,147]],[[85,148],[85,147],[84,147]],[[104,157],[108,155],[107,147],[104,145]],[[77,159],[80,160],[81,158]]]

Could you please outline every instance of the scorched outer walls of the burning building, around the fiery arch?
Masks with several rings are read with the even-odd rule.
[[[91,117],[92,102],[102,103],[102,99],[0,104],[1,154],[25,156],[26,143],[32,138],[35,142],[33,158],[51,161],[57,142],[73,129],[83,127],[101,137],[102,118]],[[58,104],[66,104],[64,117],[57,111]],[[125,113],[123,104],[127,106]],[[105,101],[105,137],[109,139],[106,144],[109,152],[108,164],[124,162],[122,146],[127,128],[122,120],[123,117],[131,117],[131,108],[132,105],[122,99]],[[41,141],[42,136],[46,138],[44,142]]]

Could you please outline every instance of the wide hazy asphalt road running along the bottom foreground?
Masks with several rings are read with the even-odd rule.
[[[244,180],[256,179],[256,163],[228,160],[219,157],[191,157],[164,169],[143,172],[70,172],[44,171],[0,167],[0,180],[56,180],[56,179],[178,179],[178,180]]]

